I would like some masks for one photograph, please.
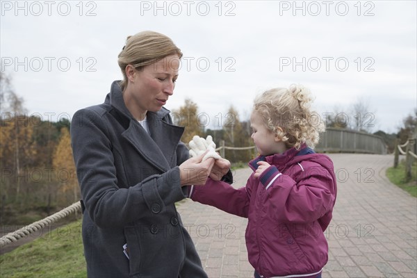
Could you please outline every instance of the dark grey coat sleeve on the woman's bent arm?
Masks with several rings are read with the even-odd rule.
[[[99,227],[122,227],[145,213],[165,211],[186,197],[179,167],[152,175],[129,188],[117,186],[117,173],[106,123],[97,111],[83,109],[72,118],[71,140],[86,212]],[[149,213],[148,213],[149,215]]]

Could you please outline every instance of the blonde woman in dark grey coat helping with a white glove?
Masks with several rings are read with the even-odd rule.
[[[227,169],[188,159],[183,127],[163,108],[181,56],[160,33],[128,37],[118,60],[124,80],[104,104],[74,114],[88,277],[207,277],[174,203]]]

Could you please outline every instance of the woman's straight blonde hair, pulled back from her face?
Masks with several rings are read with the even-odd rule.
[[[123,74],[123,81],[120,83],[122,90],[127,83],[125,72],[127,65],[133,65],[137,70],[141,70],[146,65],[151,65],[173,54],[177,54],[179,58],[183,56],[181,49],[166,35],[154,31],[129,35],[117,60]]]

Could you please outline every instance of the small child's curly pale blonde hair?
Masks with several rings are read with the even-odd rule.
[[[313,148],[318,144],[319,133],[325,131],[325,124],[318,113],[310,111],[312,101],[309,89],[293,84],[288,89],[263,92],[254,100],[254,111],[288,149],[300,149],[303,143]]]

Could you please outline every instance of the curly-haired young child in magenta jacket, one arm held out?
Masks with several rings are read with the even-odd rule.
[[[332,220],[336,178],[329,157],[316,154],[324,124],[311,120],[309,90],[301,85],[264,92],[250,122],[260,156],[245,187],[208,179],[191,199],[248,218],[246,245],[255,277],[321,277]]]

